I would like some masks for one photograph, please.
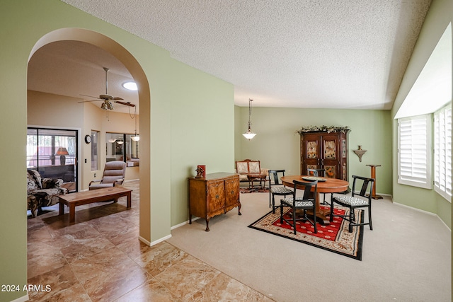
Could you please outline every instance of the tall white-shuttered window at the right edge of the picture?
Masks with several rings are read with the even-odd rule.
[[[452,201],[452,105],[434,114],[434,190]]]

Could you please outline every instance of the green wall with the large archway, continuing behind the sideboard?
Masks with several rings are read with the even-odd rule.
[[[7,209],[0,213],[1,284],[27,283],[27,65],[35,45],[43,45],[42,37],[81,40],[102,47],[118,57],[140,84],[140,236],[144,240],[166,238],[174,223],[187,220],[183,190],[195,165],[205,163],[209,172],[232,171],[231,84],[182,64],[166,50],[58,0],[1,1],[0,28],[4,108],[0,133],[1,139],[8,141],[0,146],[1,167],[8,171],[0,182],[0,203]],[[0,292],[0,301],[25,295]]]

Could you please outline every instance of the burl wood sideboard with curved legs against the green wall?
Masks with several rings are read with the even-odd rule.
[[[207,174],[205,178],[189,178],[189,224],[192,215],[204,218],[208,232],[212,217],[235,207],[241,215],[239,174],[220,172]]]

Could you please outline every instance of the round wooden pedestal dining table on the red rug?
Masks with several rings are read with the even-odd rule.
[[[288,187],[294,187],[293,180],[298,180],[302,182],[307,182],[310,180],[304,180],[303,178],[309,178],[306,175],[287,175],[282,176],[282,184]],[[338,180],[336,178],[320,178],[325,181],[318,181],[318,190],[316,192],[315,201],[316,201],[316,221],[319,221],[321,224],[329,224],[328,216],[331,214],[330,210],[321,209],[319,207],[319,193],[340,193],[345,192],[349,189],[349,182],[345,180]],[[314,191],[314,187],[311,187],[311,191]]]

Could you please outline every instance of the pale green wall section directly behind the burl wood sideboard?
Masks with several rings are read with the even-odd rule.
[[[187,67],[173,78],[171,103],[171,226],[188,221],[188,178],[234,172],[234,90],[231,84]],[[205,87],[210,83],[209,87]],[[190,130],[189,130],[190,129]]]

